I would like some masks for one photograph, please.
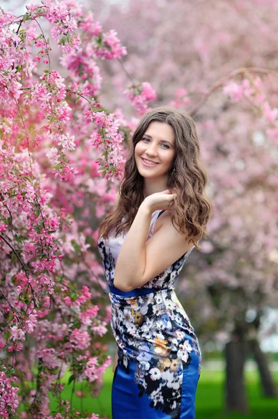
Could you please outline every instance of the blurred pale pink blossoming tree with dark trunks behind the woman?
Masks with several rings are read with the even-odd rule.
[[[97,3],[92,7],[98,10]],[[184,108],[196,119],[214,216],[178,290],[185,307],[192,304],[201,337],[226,344],[226,405],[242,411],[247,351],[258,362],[265,394],[277,395],[258,346],[264,309],[277,307],[278,291],[277,8],[272,0],[151,7],[139,0],[111,6],[102,21],[128,47],[129,73],[155,87],[159,104]],[[106,95],[120,103],[126,75],[116,63],[111,67]],[[233,362],[241,365],[238,376]]]

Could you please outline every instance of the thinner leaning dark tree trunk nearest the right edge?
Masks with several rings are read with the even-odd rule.
[[[265,353],[260,348],[257,339],[250,341],[250,348],[254,354],[254,359],[258,365],[258,371],[261,375],[261,386],[263,395],[266,397],[278,397],[278,390],[268,367],[268,360]]]

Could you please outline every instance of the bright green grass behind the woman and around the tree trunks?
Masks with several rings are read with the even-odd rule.
[[[273,374],[278,385],[278,372]],[[98,413],[100,417],[107,416],[111,419],[111,383],[113,378],[112,369],[109,368],[104,374],[104,388],[100,396],[92,398],[86,393],[82,404],[83,409],[90,413]],[[65,376],[65,382],[68,376]],[[224,372],[208,371],[203,369],[199,380],[196,393],[196,419],[277,419],[278,399],[267,399],[261,395],[261,388],[258,382],[257,372],[246,372],[245,380],[247,383],[247,397],[249,402],[249,414],[246,416],[240,413],[229,415],[224,414]],[[82,383],[77,383],[76,390],[82,388]],[[72,385],[66,385],[63,391],[63,399],[70,399]],[[81,399],[73,396],[72,404],[76,409],[82,411]],[[56,401],[52,399],[51,409],[55,410]]]

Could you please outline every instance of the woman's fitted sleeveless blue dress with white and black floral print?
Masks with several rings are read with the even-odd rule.
[[[146,240],[162,212],[153,212]],[[112,418],[194,419],[201,350],[173,288],[194,246],[144,286],[123,292],[114,287],[114,272],[125,235],[112,233],[98,240],[118,346]]]

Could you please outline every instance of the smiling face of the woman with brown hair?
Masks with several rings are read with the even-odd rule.
[[[144,178],[166,177],[175,156],[175,133],[171,125],[150,122],[134,149],[134,158]]]

